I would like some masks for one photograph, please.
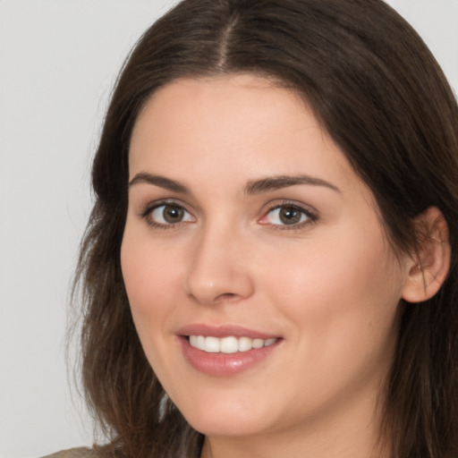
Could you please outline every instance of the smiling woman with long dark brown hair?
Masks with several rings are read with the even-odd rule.
[[[456,456],[457,126],[382,1],[157,21],[106,114],[81,249],[97,453]]]

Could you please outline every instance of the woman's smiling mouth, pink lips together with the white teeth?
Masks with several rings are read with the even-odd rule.
[[[191,325],[177,333],[191,367],[207,375],[230,377],[265,360],[283,339],[245,327]]]

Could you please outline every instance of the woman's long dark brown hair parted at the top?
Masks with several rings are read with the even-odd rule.
[[[82,378],[107,454],[198,457],[203,437],[167,401],[132,323],[120,267],[132,127],[180,77],[253,72],[305,98],[377,199],[396,250],[437,206],[449,276],[406,304],[382,394],[393,458],[458,456],[458,107],[420,37],[381,0],[184,0],[146,31],[114,89],[92,169],[81,245]]]

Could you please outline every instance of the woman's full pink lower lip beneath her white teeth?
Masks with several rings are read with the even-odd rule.
[[[230,377],[252,368],[276,350],[281,339],[267,347],[251,349],[247,352],[208,353],[194,348],[185,337],[180,337],[184,357],[194,369],[216,377]]]

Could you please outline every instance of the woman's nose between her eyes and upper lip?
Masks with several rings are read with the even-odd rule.
[[[214,225],[196,236],[186,277],[194,301],[216,304],[241,301],[254,292],[248,245],[230,227]]]

